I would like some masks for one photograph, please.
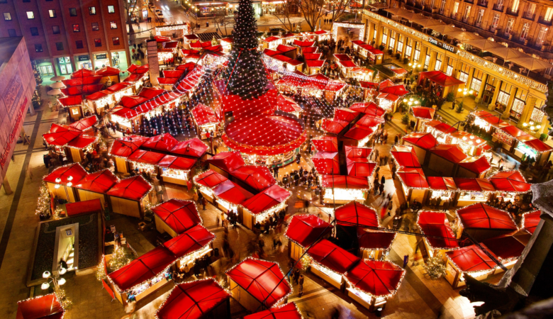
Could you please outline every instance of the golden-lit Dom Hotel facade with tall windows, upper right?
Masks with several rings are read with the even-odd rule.
[[[550,1],[389,0],[388,7],[425,13],[508,47],[520,47],[530,56],[547,62],[553,59],[553,34],[549,30],[553,3]],[[420,69],[441,70],[461,79],[465,84],[459,89],[473,90],[475,101],[488,104],[490,111],[501,113],[502,118],[508,118],[519,128],[529,128],[532,121],[535,123],[532,133],[538,137],[548,133],[547,117],[540,108],[546,101],[546,82],[551,79],[551,68],[536,70],[528,77],[523,75],[525,72],[516,72],[516,67],[510,69],[508,63],[496,64],[495,60],[484,59],[462,45],[443,42],[436,33],[402,23],[374,6],[366,6],[363,12],[367,43],[382,45],[393,55],[399,53],[402,60],[421,65]],[[454,94],[460,93],[456,90]]]

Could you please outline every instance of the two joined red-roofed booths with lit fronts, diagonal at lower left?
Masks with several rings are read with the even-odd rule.
[[[214,239],[213,233],[196,225],[108,274],[104,287],[110,289],[123,306],[127,306],[130,298],[139,302],[169,283],[174,264],[189,269],[196,259],[211,252]]]

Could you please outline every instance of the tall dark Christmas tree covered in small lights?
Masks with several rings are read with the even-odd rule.
[[[242,100],[255,99],[267,92],[267,72],[257,50],[257,23],[251,0],[240,0],[235,15],[233,50],[223,74],[230,94]]]

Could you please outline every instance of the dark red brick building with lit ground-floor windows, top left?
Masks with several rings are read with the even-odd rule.
[[[0,0],[0,37],[26,40],[46,77],[130,64],[125,12],[118,0]]]

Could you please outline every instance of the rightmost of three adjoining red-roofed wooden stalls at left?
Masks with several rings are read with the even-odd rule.
[[[135,176],[121,179],[106,193],[111,202],[111,211],[121,215],[144,218],[147,203],[155,203],[153,187],[143,177]]]

